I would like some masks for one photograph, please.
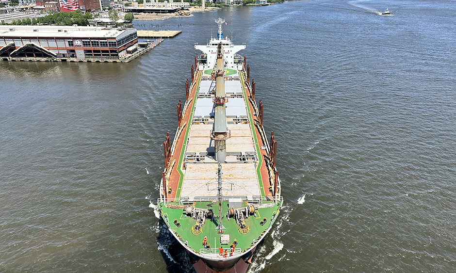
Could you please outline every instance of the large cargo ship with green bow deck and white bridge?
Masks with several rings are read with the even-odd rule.
[[[277,140],[263,128],[255,80],[223,36],[199,50],[178,128],[163,142],[164,171],[157,201],[161,217],[195,271],[245,273],[256,248],[274,228],[283,204],[276,168]]]

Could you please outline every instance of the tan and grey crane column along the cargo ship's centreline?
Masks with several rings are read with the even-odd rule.
[[[223,65],[223,47],[222,43],[217,47],[217,63],[215,66],[215,96],[214,102],[214,128],[212,132],[212,139],[215,140],[215,160],[219,163],[225,163],[227,157],[226,140],[229,138],[227,113],[225,102],[225,78],[224,78],[224,65]]]

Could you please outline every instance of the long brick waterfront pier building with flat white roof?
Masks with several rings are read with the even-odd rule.
[[[1,60],[119,60],[138,47],[136,29],[0,26]],[[120,57],[119,57],[120,56]]]

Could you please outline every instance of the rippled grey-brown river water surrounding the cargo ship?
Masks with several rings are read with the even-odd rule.
[[[194,43],[220,16],[247,45],[285,199],[249,272],[453,272],[455,14],[233,7],[135,21],[182,33],[127,64],[0,62],[0,271],[193,270],[153,202]]]

